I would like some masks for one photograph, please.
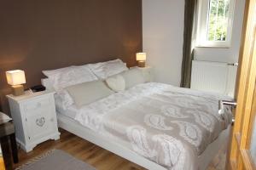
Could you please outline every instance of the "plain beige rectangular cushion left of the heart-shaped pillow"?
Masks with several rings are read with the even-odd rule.
[[[83,82],[66,89],[78,108],[113,94],[113,91],[102,81]]]

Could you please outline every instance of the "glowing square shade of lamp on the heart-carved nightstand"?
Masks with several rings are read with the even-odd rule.
[[[26,83],[24,71],[20,71],[20,70],[6,71],[6,78],[9,85],[12,85],[12,86]]]

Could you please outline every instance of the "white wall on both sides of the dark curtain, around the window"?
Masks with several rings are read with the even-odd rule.
[[[236,0],[231,48],[196,48],[195,59],[238,61],[245,0]],[[183,57],[184,0],[143,0],[143,51],[155,81],[179,86]]]

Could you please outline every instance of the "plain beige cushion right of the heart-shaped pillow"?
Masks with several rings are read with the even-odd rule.
[[[122,77],[125,79],[125,88],[132,88],[137,84],[145,82],[143,77],[143,72],[138,68],[131,69],[121,73]]]

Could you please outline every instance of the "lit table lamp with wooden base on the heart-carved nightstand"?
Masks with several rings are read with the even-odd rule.
[[[9,85],[12,86],[13,94],[15,96],[24,94],[24,87],[22,85],[26,83],[24,71],[6,71],[6,78]]]

